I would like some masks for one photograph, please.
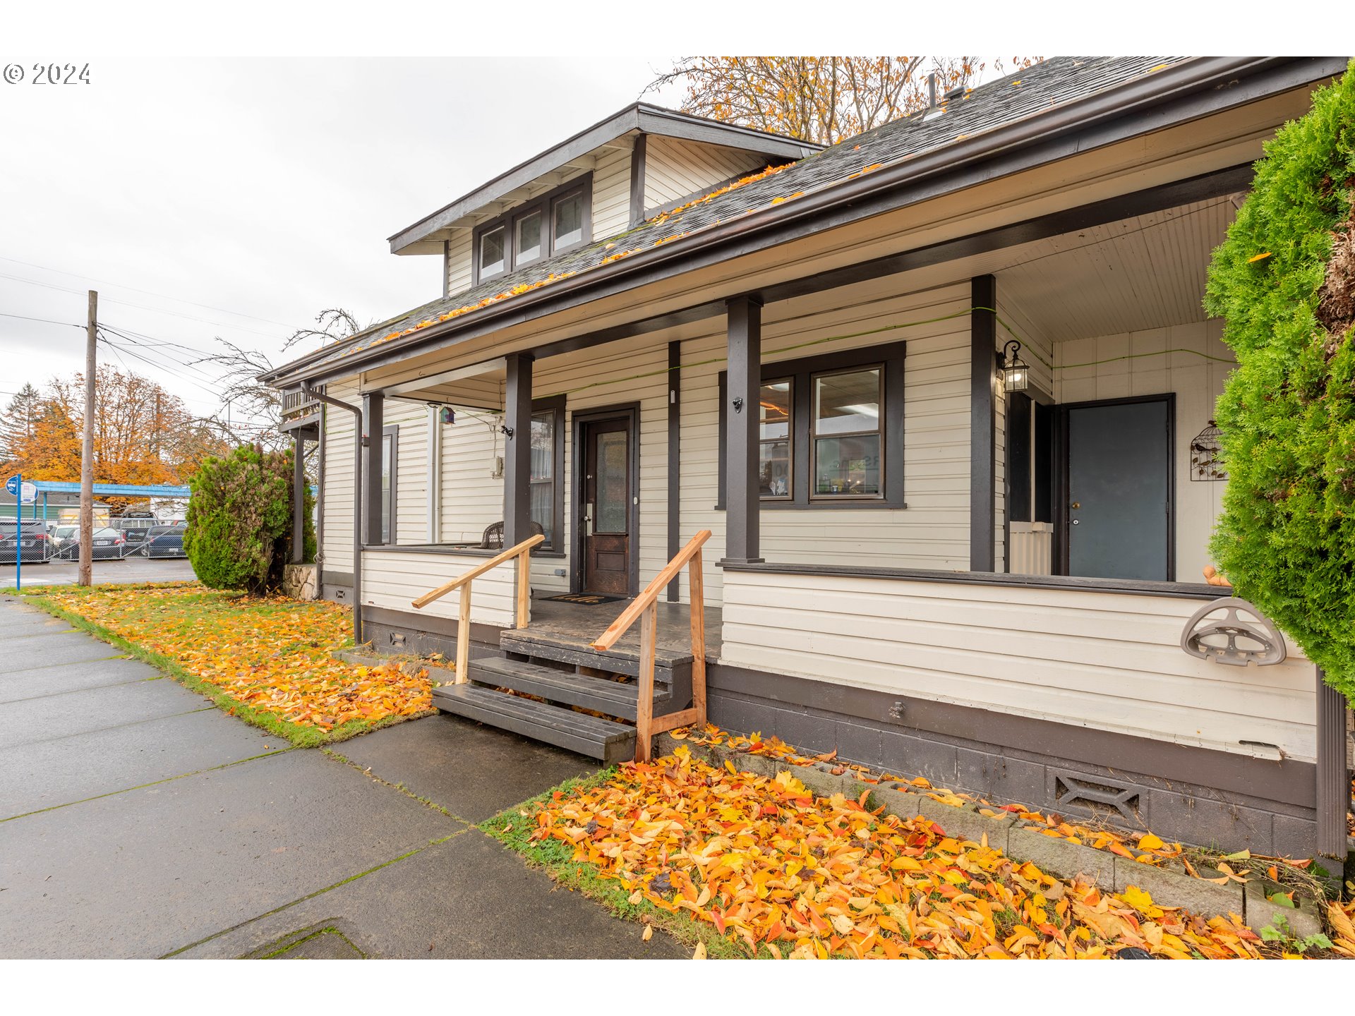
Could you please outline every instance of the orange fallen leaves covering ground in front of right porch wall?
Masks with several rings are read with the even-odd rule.
[[[1256,958],[1238,918],[1205,920],[1148,893],[1098,890],[1019,864],[927,818],[816,799],[790,771],[715,769],[686,746],[557,791],[530,839],[650,905],[775,958]],[[505,829],[509,826],[505,826]]]

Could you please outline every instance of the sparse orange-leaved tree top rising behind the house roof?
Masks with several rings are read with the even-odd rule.
[[[645,92],[686,91],[682,111],[835,145],[967,88],[985,68],[1019,70],[1039,57],[683,57]]]

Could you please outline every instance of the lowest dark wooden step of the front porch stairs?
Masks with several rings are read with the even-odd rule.
[[[599,719],[572,708],[523,699],[478,684],[444,684],[432,690],[432,704],[443,713],[511,730],[534,741],[566,748],[604,765],[633,759],[635,727]]]

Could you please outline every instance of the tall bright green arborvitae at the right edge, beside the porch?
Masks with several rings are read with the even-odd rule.
[[[1205,306],[1237,355],[1211,553],[1355,702],[1355,62],[1266,145]]]

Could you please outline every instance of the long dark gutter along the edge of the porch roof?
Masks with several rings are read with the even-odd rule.
[[[488,331],[519,324],[554,310],[564,310],[585,302],[585,299],[610,295],[608,290],[621,291],[630,289],[630,286],[623,284],[626,279],[641,276],[645,272],[654,272],[663,266],[675,261],[683,261],[695,252],[707,248],[715,249],[721,245],[729,245],[732,249],[724,252],[722,259],[736,257],[753,249],[782,242],[789,237],[779,238],[771,236],[762,242],[756,242],[756,240],[759,236],[771,234],[775,230],[787,232],[787,228],[805,219],[820,219],[816,228],[809,232],[821,232],[879,214],[885,210],[878,207],[881,205],[881,195],[905,187],[916,188],[920,183],[938,176],[959,177],[959,173],[957,173],[959,168],[970,167],[997,154],[1030,149],[1041,142],[1051,142],[1073,130],[1077,130],[1080,135],[1087,135],[1096,125],[1125,121],[1133,112],[1146,112],[1152,107],[1180,100],[1206,89],[1221,91],[1228,88],[1229,95],[1237,99],[1234,103],[1220,102],[1213,108],[1245,104],[1267,95],[1340,73],[1346,61],[1340,58],[1201,57],[1188,60],[1157,73],[1133,79],[1117,88],[1068,103],[1050,112],[1028,117],[972,140],[934,149],[915,158],[878,169],[869,176],[828,184],[818,191],[812,191],[802,198],[797,198],[794,202],[763,209],[751,215],[703,229],[690,237],[649,248],[611,264],[585,270],[579,275],[542,286],[533,293],[524,293],[481,310],[431,325],[382,344],[371,351],[371,356],[355,355],[354,359],[347,362],[340,358],[321,364],[317,363],[321,359],[317,351],[309,358],[295,360],[270,374],[262,375],[260,379],[267,383],[287,385],[295,383],[302,377],[331,378],[370,370],[394,359],[402,359],[408,351],[415,348],[443,348],[455,341],[469,339],[473,335],[482,335]],[[1283,73],[1285,70],[1290,73]],[[1243,88],[1245,79],[1256,79],[1264,72],[1274,72],[1274,75],[1267,76],[1260,88]],[[1028,165],[1003,167],[997,172],[978,173],[976,179],[961,177],[953,187],[940,188],[931,194],[912,195],[911,202],[898,202],[896,207],[962,190],[976,183],[997,179],[999,176],[1050,163],[1069,154],[1100,148],[1112,141],[1140,133],[1163,129],[1177,122],[1187,122],[1210,111],[1190,108],[1184,111],[1184,115],[1177,118],[1164,115],[1145,123],[1134,121],[1130,123],[1130,130],[1119,131],[1114,137],[1079,137],[1075,144],[1054,150],[1047,157],[1028,160]],[[869,202],[867,198],[874,198],[875,200]],[[642,282],[633,284],[642,284]],[[533,310],[539,310],[539,313],[533,314]],[[332,347],[325,351],[327,355],[331,352],[333,352]]]

